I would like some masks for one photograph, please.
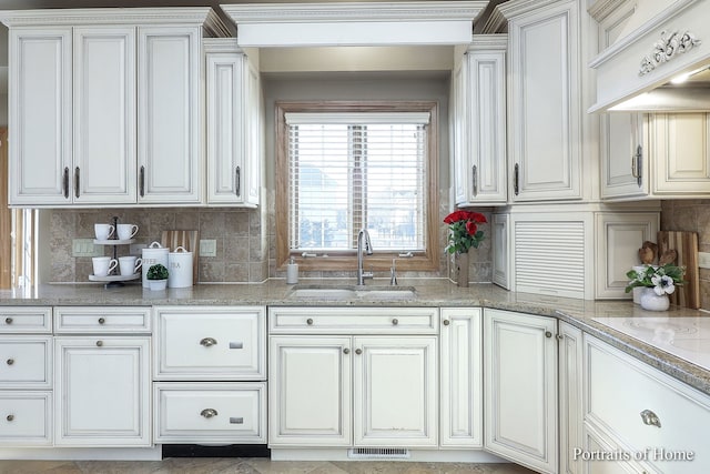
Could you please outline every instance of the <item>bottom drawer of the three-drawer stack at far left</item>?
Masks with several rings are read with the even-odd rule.
[[[52,392],[0,392],[0,444],[52,444]]]

